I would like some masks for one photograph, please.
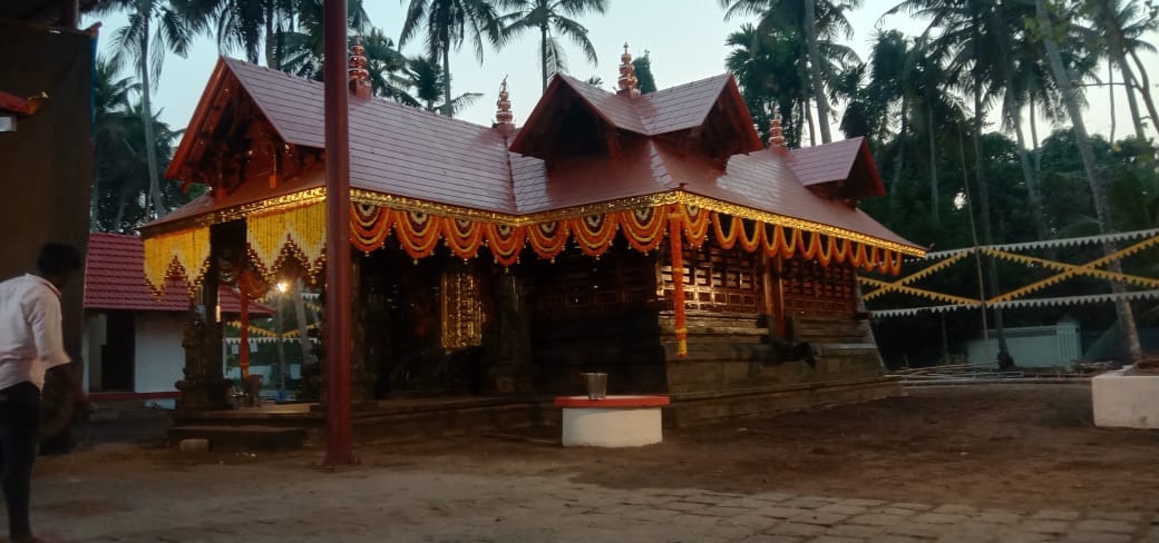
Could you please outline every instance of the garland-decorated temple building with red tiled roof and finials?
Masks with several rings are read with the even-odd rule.
[[[766,147],[730,74],[640,94],[627,52],[619,91],[556,74],[516,126],[504,83],[480,126],[370,97],[359,49],[356,403],[549,405],[606,372],[610,394],[671,395],[665,424],[685,425],[899,391],[857,273],[924,249],[858,208],[884,193],[863,139],[788,149],[778,119]],[[209,193],[143,228],[150,284],[325,288],[323,149],[322,83],[221,59],[167,171]],[[226,406],[202,315],[187,411]]]

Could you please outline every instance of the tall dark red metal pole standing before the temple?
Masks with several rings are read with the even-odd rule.
[[[350,420],[347,0],[326,0],[326,465],[356,463]]]

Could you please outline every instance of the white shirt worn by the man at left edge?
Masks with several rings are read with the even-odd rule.
[[[68,364],[60,331],[60,291],[31,273],[0,282],[0,390]]]

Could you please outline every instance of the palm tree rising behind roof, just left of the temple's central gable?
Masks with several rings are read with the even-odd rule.
[[[588,39],[588,29],[574,17],[589,12],[604,13],[607,9],[607,0],[508,0],[506,7],[512,12],[500,17],[504,41],[529,30],[539,31],[539,61],[544,90],[547,90],[547,81],[552,74],[567,69],[560,36],[570,38],[591,64],[599,61],[595,45]]]

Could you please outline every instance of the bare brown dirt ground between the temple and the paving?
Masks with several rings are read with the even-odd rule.
[[[666,430],[634,449],[562,448],[559,428],[362,447],[364,468],[568,475],[615,489],[793,492],[976,507],[1159,511],[1159,431],[1096,428],[1088,384],[910,388],[905,397]],[[137,449],[68,461],[102,470],[190,462],[300,467],[319,450],[181,456]],[[83,460],[82,460],[83,458]],[[124,460],[117,462],[116,460]],[[59,463],[59,462],[58,462]],[[63,464],[61,464],[63,465]],[[53,462],[42,463],[45,475]]]

